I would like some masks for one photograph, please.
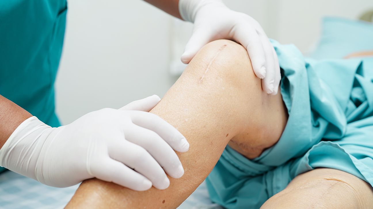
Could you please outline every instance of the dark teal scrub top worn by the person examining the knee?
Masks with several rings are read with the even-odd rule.
[[[52,127],[66,11],[66,0],[0,1],[0,95]]]

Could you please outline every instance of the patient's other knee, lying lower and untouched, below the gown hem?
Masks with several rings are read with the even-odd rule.
[[[368,183],[343,171],[318,168],[295,177],[261,209],[369,209],[372,205],[373,190]]]

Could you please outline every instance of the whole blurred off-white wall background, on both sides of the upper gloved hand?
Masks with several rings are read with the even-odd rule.
[[[324,16],[357,19],[372,0],[224,0],[247,13],[269,38],[307,54],[317,43]],[[70,0],[56,108],[62,124],[104,107],[120,108],[177,80],[192,24],[142,0]]]

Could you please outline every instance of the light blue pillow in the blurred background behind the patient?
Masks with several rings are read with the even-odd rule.
[[[310,57],[343,58],[351,53],[373,50],[373,24],[359,20],[325,17],[322,35]]]

